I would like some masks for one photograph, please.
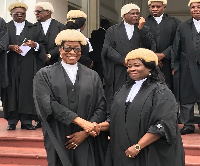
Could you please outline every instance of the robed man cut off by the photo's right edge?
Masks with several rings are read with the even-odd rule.
[[[180,24],[173,43],[172,68],[180,101],[181,134],[194,133],[194,104],[200,102],[200,0],[188,4],[192,18]]]

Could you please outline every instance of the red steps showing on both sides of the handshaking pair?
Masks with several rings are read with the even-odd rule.
[[[47,166],[41,129],[6,130],[7,121],[0,118],[0,166]],[[182,125],[180,125],[180,128]],[[183,135],[185,166],[200,166],[200,129]]]

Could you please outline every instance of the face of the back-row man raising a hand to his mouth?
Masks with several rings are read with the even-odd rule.
[[[128,13],[124,14],[124,21],[130,25],[134,25],[139,21],[139,11],[132,9]]]

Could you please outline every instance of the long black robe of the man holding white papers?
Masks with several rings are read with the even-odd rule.
[[[7,24],[9,45],[21,45],[23,40],[33,40],[39,43],[39,50],[34,48],[22,56],[14,51],[7,53],[9,86],[5,89],[3,97],[4,117],[7,119],[10,112],[35,115],[33,101],[33,77],[39,68],[44,67],[45,51],[40,44],[41,35],[35,32],[35,26],[25,21],[25,26],[20,36],[16,36],[16,27],[13,21]]]

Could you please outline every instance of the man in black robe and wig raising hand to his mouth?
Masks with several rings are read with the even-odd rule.
[[[139,20],[139,12],[140,8],[135,4],[124,5],[121,9],[123,21],[108,28],[105,35],[102,65],[108,110],[114,93],[128,79],[124,63],[126,54],[139,47],[156,50],[149,27],[144,26],[145,19],[141,17]]]

